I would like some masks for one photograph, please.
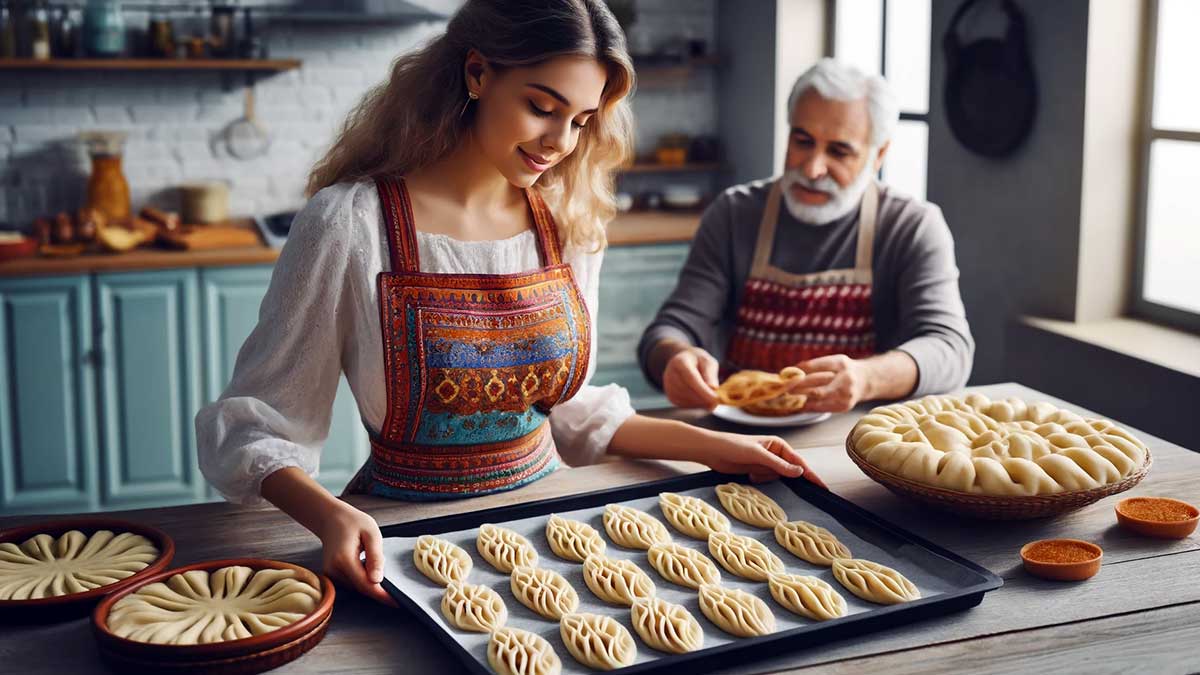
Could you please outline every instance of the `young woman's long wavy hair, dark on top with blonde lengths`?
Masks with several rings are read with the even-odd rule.
[[[307,195],[336,183],[401,177],[449,154],[474,121],[466,108],[467,53],[497,70],[584,55],[607,70],[600,108],[575,151],[538,180],[563,240],[600,249],[617,214],[614,172],[632,155],[628,101],[634,65],[625,36],[602,0],[468,0],[445,34],[396,59],[388,82],[371,89],[347,117],[308,174]]]

